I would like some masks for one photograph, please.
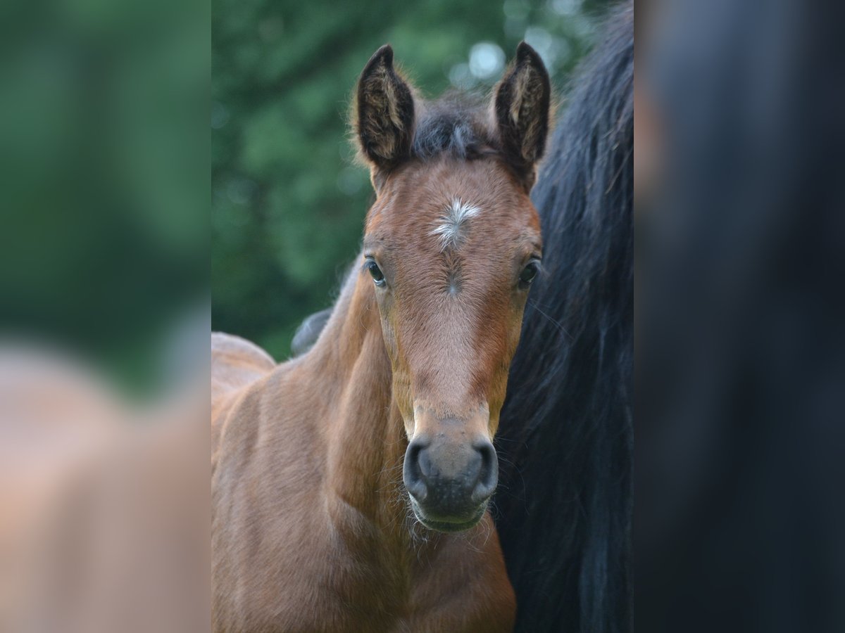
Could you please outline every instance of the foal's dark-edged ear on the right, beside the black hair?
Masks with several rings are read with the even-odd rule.
[[[520,42],[515,62],[496,89],[494,111],[505,157],[528,188],[534,184],[534,166],[546,148],[551,92],[542,59]]]

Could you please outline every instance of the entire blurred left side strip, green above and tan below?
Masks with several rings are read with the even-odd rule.
[[[209,630],[208,8],[0,6],[0,631]]]

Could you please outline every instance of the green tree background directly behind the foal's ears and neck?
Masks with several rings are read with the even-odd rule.
[[[364,64],[390,42],[423,95],[488,91],[519,41],[558,94],[608,2],[218,0],[212,20],[212,327],[276,360],[330,306],[372,202],[346,115]],[[565,102],[564,102],[565,107]]]

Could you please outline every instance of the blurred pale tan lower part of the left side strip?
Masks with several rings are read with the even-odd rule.
[[[0,349],[0,630],[209,630],[207,393],[134,408]]]

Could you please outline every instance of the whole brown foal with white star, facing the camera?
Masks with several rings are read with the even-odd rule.
[[[275,368],[212,342],[215,631],[512,628],[486,509],[549,94],[525,43],[489,106],[418,99],[390,46],[364,68],[376,200],[323,333]]]

